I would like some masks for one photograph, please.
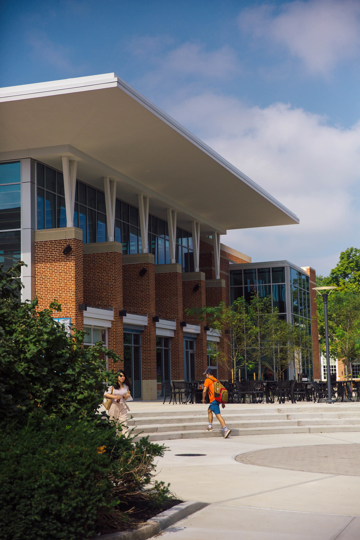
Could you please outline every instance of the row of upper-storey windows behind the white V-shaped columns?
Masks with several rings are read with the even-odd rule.
[[[63,173],[39,162],[36,171],[37,228],[66,227]],[[76,181],[74,226],[83,230],[84,244],[107,241],[105,193],[79,180]],[[142,251],[139,209],[119,199],[115,208],[115,239],[123,244],[124,255]],[[147,249],[154,255],[155,265],[169,264],[167,221],[154,215],[149,215]],[[176,229],[176,262],[183,272],[194,271],[192,234],[180,228]]]

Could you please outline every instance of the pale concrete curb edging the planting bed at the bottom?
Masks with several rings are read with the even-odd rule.
[[[167,529],[174,523],[184,519],[194,512],[198,512],[205,508],[210,503],[202,503],[200,501],[188,501],[186,503],[176,504],[176,506],[161,512],[157,516],[147,520],[146,525],[142,525],[140,529],[134,531],[118,531],[111,532],[109,535],[96,536],[92,540],[146,540],[155,536],[157,532]]]

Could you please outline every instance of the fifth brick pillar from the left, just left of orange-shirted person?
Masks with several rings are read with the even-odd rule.
[[[194,292],[195,285],[199,285],[198,291]],[[200,325],[200,334],[194,334],[195,340],[195,363],[196,379],[203,379],[203,373],[207,368],[207,346],[206,332],[204,330],[205,322],[200,322],[197,316],[186,314],[187,308],[205,307],[205,274],[203,272],[188,272],[182,274],[182,307],[184,308],[184,321],[190,325]],[[186,332],[186,327],[184,328]]]

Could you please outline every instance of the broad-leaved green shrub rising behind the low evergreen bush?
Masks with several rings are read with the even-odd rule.
[[[103,343],[84,349],[84,332],[53,321],[61,306],[37,311],[37,300],[19,302],[22,264],[0,268],[0,414],[27,415],[41,407],[48,414],[91,416],[114,374],[101,356],[119,357]]]

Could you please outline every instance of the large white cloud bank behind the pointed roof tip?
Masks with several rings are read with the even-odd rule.
[[[342,249],[359,245],[360,123],[344,130],[283,103],[246,107],[211,93],[169,112],[300,218],[300,225],[231,231],[222,241],[253,260],[321,263],[325,274]]]

